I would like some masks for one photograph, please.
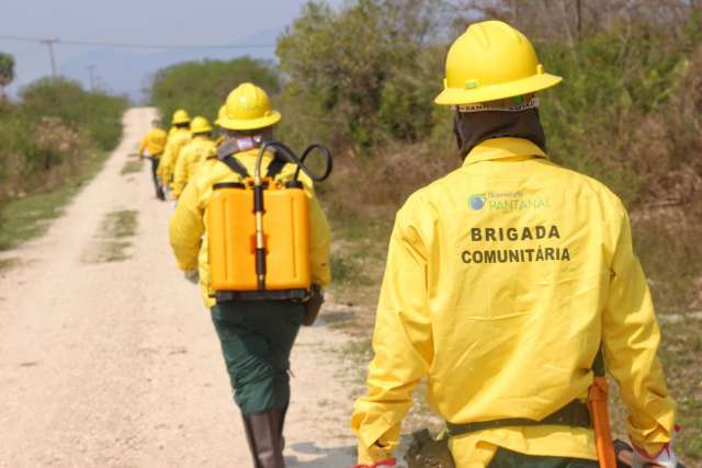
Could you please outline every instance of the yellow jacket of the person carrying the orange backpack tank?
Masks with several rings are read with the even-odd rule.
[[[239,152],[236,158],[253,174],[253,167],[258,149]],[[261,164],[261,171],[265,173],[268,164],[273,160],[272,153],[265,153]],[[296,165],[286,164],[278,180],[292,180]],[[210,259],[207,252],[207,203],[212,195],[212,186],[219,182],[240,182],[241,176],[231,171],[224,162],[216,158],[208,158],[197,170],[195,176],[188,183],[182,192],[176,213],[170,220],[170,242],[181,270],[199,267],[200,285],[203,298],[207,307],[214,306],[210,298]],[[299,181],[309,197],[309,225],[310,225],[310,261],[312,279],[325,287],[329,284],[329,225],[325,213],[315,196],[313,183],[304,173]]]

